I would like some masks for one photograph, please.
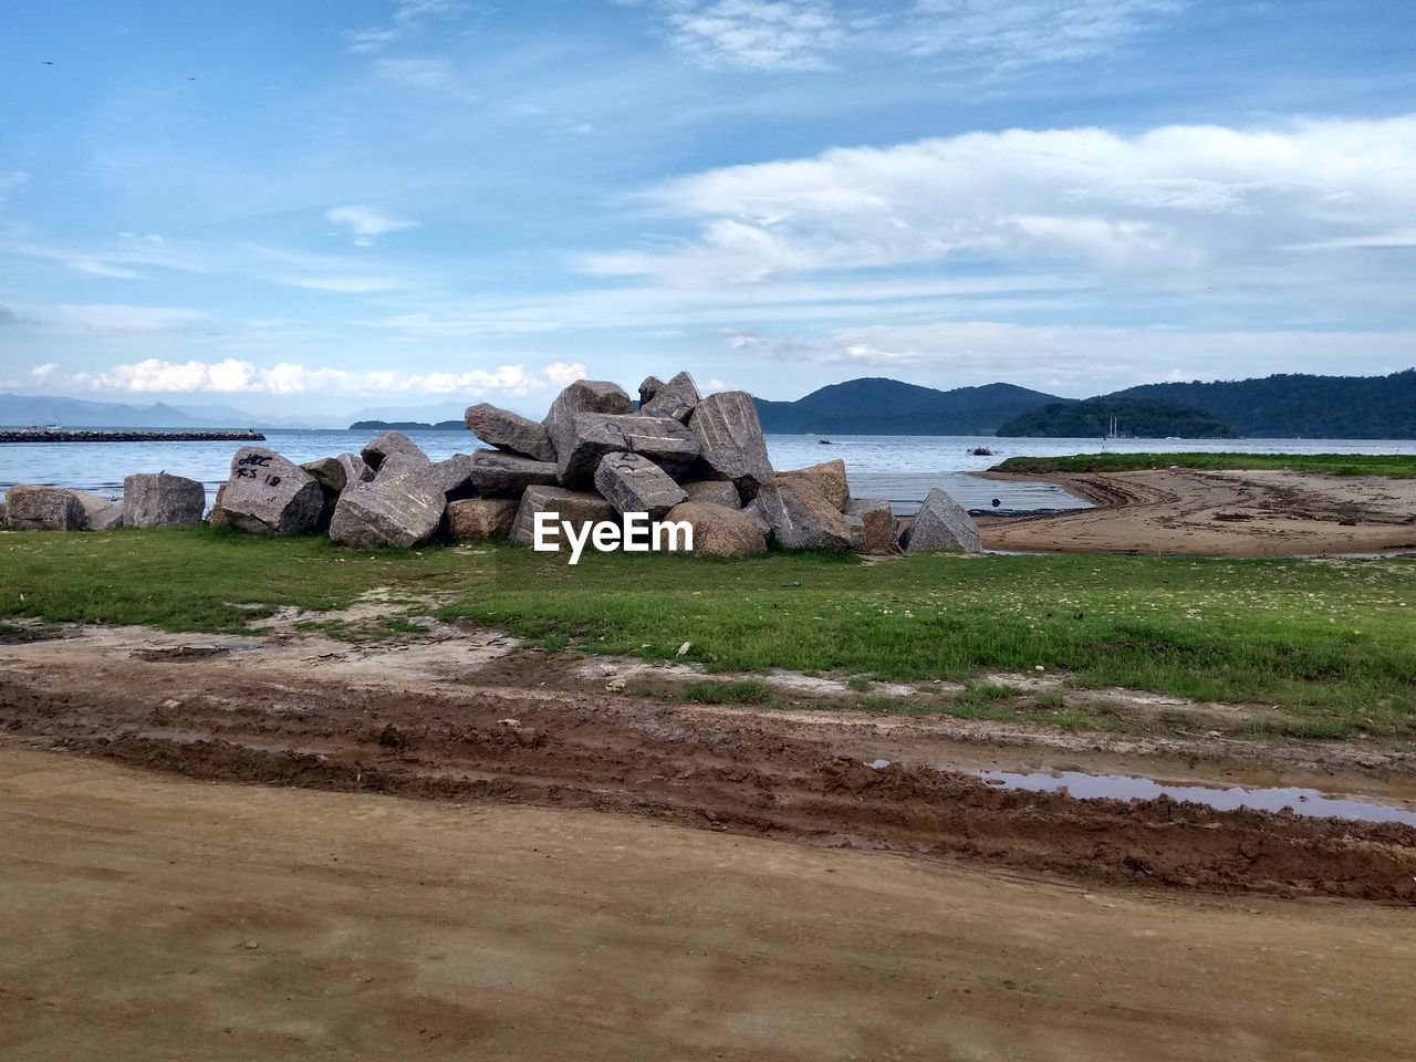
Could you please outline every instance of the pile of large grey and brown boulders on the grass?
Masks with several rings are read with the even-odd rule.
[[[692,525],[694,552],[709,556],[760,554],[772,541],[865,554],[980,548],[973,520],[943,491],[930,493],[902,534],[889,503],[851,497],[841,460],[776,472],[743,391],[702,398],[680,372],[667,382],[650,377],[639,396],[636,409],[616,384],[581,379],[539,423],[474,405],[467,428],[491,449],[440,462],[399,432],[358,455],[306,464],[244,446],[208,521],[266,535],[329,534],[350,547],[412,548],[436,537],[530,545],[538,513],[572,524],[647,513]],[[76,496],[14,487],[8,524],[93,525]],[[132,476],[120,517],[132,527],[195,523],[191,506],[200,520],[201,497],[191,480]]]

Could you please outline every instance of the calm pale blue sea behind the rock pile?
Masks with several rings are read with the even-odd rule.
[[[375,432],[268,430],[269,446],[300,463],[344,450],[358,452]],[[466,432],[409,432],[430,457],[449,457],[476,446]],[[170,472],[201,480],[208,496],[229,474],[235,442],[173,443],[4,443],[0,445],[0,489],[14,483],[50,483],[120,491],[135,472]],[[990,456],[974,456],[976,447]],[[1355,439],[995,439],[971,436],[840,436],[821,445],[817,436],[769,435],[767,450],[779,469],[841,457],[857,497],[882,497],[896,511],[910,513],[929,493],[943,487],[966,508],[987,508],[998,498],[1004,508],[1069,508],[1085,503],[1049,483],[998,483],[969,476],[1017,455],[1055,456],[1099,452],[1216,450],[1243,453],[1413,453],[1416,440]]]

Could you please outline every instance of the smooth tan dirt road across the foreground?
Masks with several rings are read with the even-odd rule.
[[[0,1056],[1405,1059],[1412,915],[0,741]]]

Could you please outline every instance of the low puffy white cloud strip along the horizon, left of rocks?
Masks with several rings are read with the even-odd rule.
[[[350,372],[336,368],[310,368],[297,362],[259,367],[251,361],[143,361],[115,365],[102,372],[59,374],[55,365],[44,367],[42,382],[82,391],[133,394],[266,394],[266,395],[487,395],[523,396],[556,391],[586,377],[581,362],[554,362],[538,371],[524,365],[459,372]]]

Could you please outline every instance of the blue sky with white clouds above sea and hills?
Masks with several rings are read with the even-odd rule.
[[[7,0],[0,391],[1416,364],[1409,0]]]

